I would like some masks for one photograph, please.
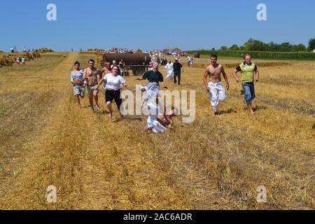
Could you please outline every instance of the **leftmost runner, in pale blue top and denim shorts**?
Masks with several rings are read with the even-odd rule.
[[[80,63],[74,63],[74,70],[71,71],[71,83],[73,85],[73,94],[76,97],[76,102],[78,102],[79,109],[82,108],[80,103],[80,98],[83,99],[85,96],[85,85],[86,81],[83,82],[83,70],[80,70]]]

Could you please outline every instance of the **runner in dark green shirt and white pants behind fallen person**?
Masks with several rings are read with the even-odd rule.
[[[159,65],[154,64],[153,70],[148,71],[144,73],[144,76],[142,78],[137,78],[137,80],[146,80],[148,79],[148,99],[154,99],[155,97],[159,96],[160,92],[160,84],[162,84],[162,87],[167,89],[167,86],[164,84],[164,79],[162,73],[159,71]]]

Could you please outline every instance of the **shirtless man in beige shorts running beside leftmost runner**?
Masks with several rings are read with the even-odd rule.
[[[94,105],[93,105],[93,97],[94,101],[97,107],[97,110],[99,111],[101,108],[99,107],[99,90],[97,90],[98,82],[102,76],[101,70],[94,67],[94,60],[89,60],[89,67],[84,70],[83,80],[87,80],[87,93],[89,95],[90,100],[90,106],[92,109],[92,112],[94,113]]]

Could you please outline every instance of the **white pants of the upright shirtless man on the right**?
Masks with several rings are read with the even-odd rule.
[[[226,92],[223,83],[209,83],[210,87],[210,102],[211,106],[214,109],[214,112],[218,112],[218,106],[221,101],[225,101],[226,99]]]

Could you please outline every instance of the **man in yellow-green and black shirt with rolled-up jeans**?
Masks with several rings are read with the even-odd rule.
[[[237,76],[237,73],[241,73],[241,78]],[[236,70],[233,71],[233,77],[237,83],[241,82],[244,91],[244,98],[249,110],[249,113],[254,114],[252,102],[255,99],[255,84],[259,80],[259,71],[257,66],[251,62],[251,55],[244,55],[244,62],[237,66]]]

